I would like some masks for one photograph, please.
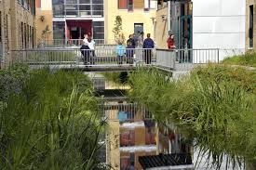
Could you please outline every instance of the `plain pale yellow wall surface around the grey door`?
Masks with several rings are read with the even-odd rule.
[[[115,35],[113,29],[115,27],[115,17],[121,16],[123,33],[126,40],[128,35],[134,33],[134,23],[143,23],[143,32],[151,33],[151,38],[154,39],[154,24],[151,18],[155,18],[156,9],[144,11],[143,8],[128,11],[128,9],[118,9],[117,0],[104,1],[104,15],[105,15],[105,39],[107,44],[113,44]]]

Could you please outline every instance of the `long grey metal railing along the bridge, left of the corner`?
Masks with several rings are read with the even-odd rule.
[[[155,62],[155,49],[100,48],[96,50],[80,48],[43,48],[11,51],[10,65],[13,63],[29,65],[68,66],[133,66],[151,65]]]

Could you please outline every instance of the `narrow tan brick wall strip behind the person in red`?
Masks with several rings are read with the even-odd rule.
[[[164,20],[162,16],[165,16]],[[168,40],[168,7],[156,11],[155,42],[157,48],[167,49]]]

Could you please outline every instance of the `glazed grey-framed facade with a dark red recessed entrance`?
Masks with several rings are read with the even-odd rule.
[[[88,33],[96,43],[102,43],[103,9],[103,0],[52,0],[53,39],[79,44]]]

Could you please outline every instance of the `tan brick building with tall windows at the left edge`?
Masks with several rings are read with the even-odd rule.
[[[10,50],[32,48],[35,45],[34,0],[0,1],[0,60],[7,59]]]

